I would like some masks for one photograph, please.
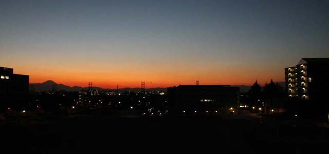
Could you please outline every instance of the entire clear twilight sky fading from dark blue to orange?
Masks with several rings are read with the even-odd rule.
[[[329,1],[0,1],[0,66],[69,86],[284,81],[329,57]]]

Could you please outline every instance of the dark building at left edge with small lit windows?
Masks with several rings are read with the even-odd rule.
[[[27,93],[29,75],[14,74],[12,68],[0,67],[0,94]]]

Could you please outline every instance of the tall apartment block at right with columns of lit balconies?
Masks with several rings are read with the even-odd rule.
[[[328,94],[329,58],[302,58],[285,68],[286,93],[303,100],[320,99]]]

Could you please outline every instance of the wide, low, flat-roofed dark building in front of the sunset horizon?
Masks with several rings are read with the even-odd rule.
[[[214,115],[236,111],[240,88],[227,85],[180,85],[168,88],[174,115]]]

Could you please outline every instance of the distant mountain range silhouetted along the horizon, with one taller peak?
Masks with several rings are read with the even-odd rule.
[[[285,82],[278,82],[283,88],[285,86]],[[29,89],[30,90],[34,90],[34,91],[52,91],[52,86],[54,84],[57,84],[56,82],[53,82],[51,80],[48,80],[44,83],[30,83],[29,84]],[[248,92],[248,90],[250,89],[250,86],[245,86],[245,85],[233,85],[232,87],[240,87],[240,92]],[[99,91],[115,91],[116,89],[104,89],[104,88],[100,88],[100,87],[93,87],[93,89],[97,89]],[[88,87],[78,87],[78,86],[74,86],[74,87],[70,87],[70,86],[66,86],[63,84],[57,84],[57,91],[80,91],[80,90],[88,90]],[[120,88],[118,89],[119,91],[126,91],[126,90],[130,90],[130,91],[140,91],[140,88]],[[149,88],[146,90],[154,90],[154,91],[167,91],[167,88]]]

